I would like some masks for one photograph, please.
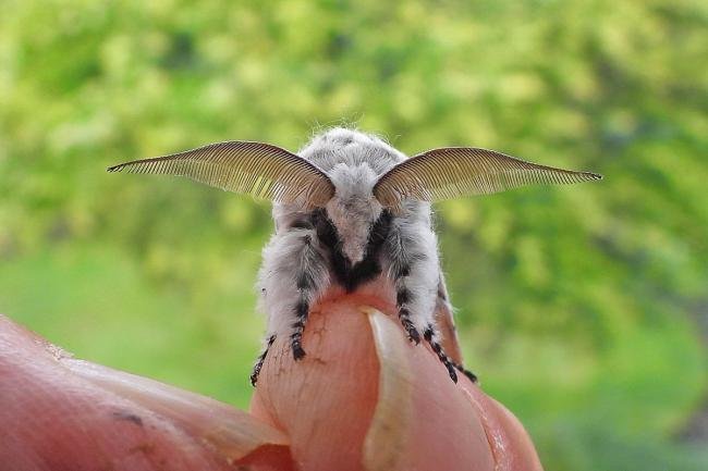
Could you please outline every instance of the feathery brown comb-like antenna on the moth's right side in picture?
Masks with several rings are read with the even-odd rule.
[[[386,172],[374,185],[384,208],[401,211],[406,199],[440,201],[487,195],[529,184],[567,184],[602,175],[526,162],[493,150],[445,147],[412,157]]]

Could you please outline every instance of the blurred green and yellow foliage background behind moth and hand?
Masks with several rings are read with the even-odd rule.
[[[708,3],[1,1],[0,311],[246,407],[268,204],[107,165],[318,128],[605,174],[439,204],[548,470],[708,469]]]

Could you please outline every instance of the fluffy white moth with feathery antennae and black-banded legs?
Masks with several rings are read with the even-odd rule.
[[[431,221],[435,201],[527,184],[600,179],[480,148],[444,147],[407,158],[383,139],[331,128],[297,153],[270,144],[225,141],[135,160],[109,172],[185,176],[273,203],[274,234],[258,275],[267,336],[255,386],[277,337],[305,358],[309,309],[326,294],[362,292],[395,300],[407,338],[430,345],[452,381],[462,364]]]

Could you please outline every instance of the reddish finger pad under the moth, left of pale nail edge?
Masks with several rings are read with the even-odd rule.
[[[283,430],[295,461],[312,471],[361,469],[377,400],[378,361],[366,317],[353,302],[315,307],[295,361],[288,338],[272,345],[251,413]]]

